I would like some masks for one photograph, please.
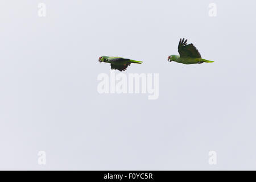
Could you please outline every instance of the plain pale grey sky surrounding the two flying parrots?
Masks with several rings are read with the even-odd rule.
[[[255,7],[1,1],[0,169],[256,169]],[[169,63],[183,37],[215,62]],[[101,55],[144,61],[125,73],[159,73],[159,99],[99,94]]]

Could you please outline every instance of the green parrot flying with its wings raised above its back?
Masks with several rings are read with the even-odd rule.
[[[175,61],[183,64],[201,64],[201,63],[213,63],[214,61],[205,60],[201,57],[199,51],[193,44],[187,45],[187,40],[184,38],[179,42],[178,55],[168,56],[168,61]]]

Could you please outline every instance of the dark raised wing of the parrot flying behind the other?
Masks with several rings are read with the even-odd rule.
[[[201,58],[197,48],[193,44],[187,45],[187,40],[184,40],[184,38],[182,40],[180,39],[178,52],[180,53],[180,57]]]

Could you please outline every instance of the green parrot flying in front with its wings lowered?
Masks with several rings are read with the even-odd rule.
[[[110,56],[101,56],[98,61],[110,63],[111,69],[118,69],[119,71],[125,71],[131,63],[141,64],[142,61],[135,61],[131,59],[126,59],[122,57],[110,57]]]

